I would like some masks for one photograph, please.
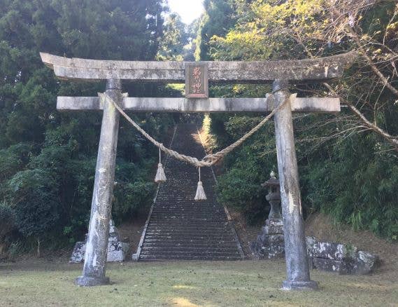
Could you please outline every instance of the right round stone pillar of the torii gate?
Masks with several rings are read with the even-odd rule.
[[[273,82],[276,107],[289,99],[288,86],[286,80]],[[275,114],[275,132],[285,231],[287,278],[283,289],[317,289],[317,283],[310,279],[290,100]]]

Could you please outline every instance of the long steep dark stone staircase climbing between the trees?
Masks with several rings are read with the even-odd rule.
[[[204,149],[196,125],[180,124],[171,148],[201,158]],[[211,168],[201,168],[207,200],[196,202],[197,169],[167,158],[167,181],[159,185],[137,253],[140,261],[153,260],[239,260],[241,245],[227,212],[215,200],[215,178]]]

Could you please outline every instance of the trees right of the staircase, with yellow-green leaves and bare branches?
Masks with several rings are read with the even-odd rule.
[[[302,198],[306,212],[327,212],[337,221],[397,240],[396,1],[209,2],[214,5],[206,7],[200,34],[206,45],[200,45],[203,59],[303,59],[360,51],[362,56],[343,79],[292,85],[300,96],[340,95],[348,106],[339,115],[295,116]],[[209,32],[208,37],[203,29],[217,22],[210,13],[222,7],[215,5],[219,2],[225,5],[225,15],[234,8],[236,22],[225,34]],[[218,86],[213,94],[264,97],[269,90],[267,86]],[[258,116],[211,116],[211,132],[222,147],[259,120]],[[260,184],[276,169],[271,123],[224,166],[226,172],[218,185],[220,200],[257,220],[266,192]]]

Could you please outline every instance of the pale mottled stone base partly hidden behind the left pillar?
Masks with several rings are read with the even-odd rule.
[[[83,262],[85,259],[85,249],[87,243],[87,235],[84,242],[77,242],[73,248],[71,260],[69,262]],[[111,221],[109,226],[109,239],[108,239],[108,254],[106,261],[124,261],[129,252],[129,244],[120,242],[118,236],[118,229],[114,226]],[[76,281],[77,282],[77,281]]]

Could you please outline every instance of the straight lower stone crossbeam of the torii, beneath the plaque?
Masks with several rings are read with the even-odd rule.
[[[121,107],[135,112],[271,112],[273,98],[148,98],[124,97]],[[340,111],[340,99],[295,98],[291,105],[293,112],[336,113]],[[91,110],[101,111],[104,105],[99,97],[65,97],[57,98],[59,111]]]

